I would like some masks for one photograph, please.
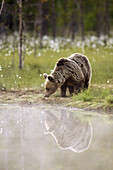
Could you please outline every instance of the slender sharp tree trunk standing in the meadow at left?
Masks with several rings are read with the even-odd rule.
[[[22,69],[22,0],[19,3],[19,38],[20,38],[20,51],[19,51],[19,68]]]

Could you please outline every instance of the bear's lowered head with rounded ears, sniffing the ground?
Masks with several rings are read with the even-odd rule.
[[[57,82],[55,81],[55,78],[52,75],[47,75],[46,73],[43,74],[43,77],[45,80],[45,97],[49,97],[51,94],[55,93],[58,89]]]

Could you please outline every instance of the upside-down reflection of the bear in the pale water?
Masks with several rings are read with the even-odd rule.
[[[83,152],[91,144],[92,127],[90,122],[75,117],[72,112],[67,116],[66,111],[62,111],[58,118],[50,111],[46,111],[45,127],[45,134],[51,134],[61,149]]]

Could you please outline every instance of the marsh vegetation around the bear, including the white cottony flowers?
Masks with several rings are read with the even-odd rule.
[[[13,36],[1,40],[0,52],[0,89],[1,90],[38,90],[44,91],[43,73],[50,74],[56,61],[73,53],[82,53],[89,58],[92,66],[92,80],[89,90],[72,97],[73,105],[103,106],[113,105],[113,41],[104,44],[104,36],[98,39],[88,36],[84,42],[78,37],[71,39],[43,37],[43,48],[39,41],[28,35],[25,43],[24,67],[19,69],[18,45],[13,48]],[[18,38],[18,34],[17,34]],[[34,43],[35,42],[35,43]],[[37,48],[34,55],[34,47]],[[59,91],[54,95],[59,96]],[[78,104],[77,104],[78,101]],[[84,104],[85,103],[85,104]]]

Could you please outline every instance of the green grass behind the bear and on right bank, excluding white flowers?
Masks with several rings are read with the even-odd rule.
[[[3,48],[0,51],[0,88],[7,90],[38,89],[44,90],[43,73],[50,74],[55,63],[61,57],[68,57],[73,53],[82,53],[88,56],[92,66],[92,80],[89,90],[73,96],[73,101],[78,105],[113,105],[113,48],[61,48],[54,51],[49,48],[37,49],[34,56],[33,48],[26,52],[24,67],[19,66],[17,51],[12,67],[13,51]],[[74,103],[73,102],[73,103]]]

